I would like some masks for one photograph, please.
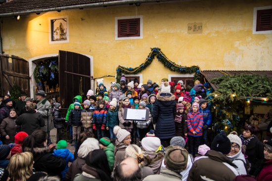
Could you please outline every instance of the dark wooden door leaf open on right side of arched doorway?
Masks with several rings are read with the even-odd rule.
[[[69,108],[76,95],[82,94],[84,101],[88,90],[91,89],[90,58],[79,53],[59,50],[58,67],[62,108]]]

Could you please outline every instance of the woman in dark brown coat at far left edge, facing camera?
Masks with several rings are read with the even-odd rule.
[[[21,131],[21,127],[15,123],[16,118],[16,110],[11,108],[9,110],[9,116],[3,119],[0,125],[1,141],[3,144],[14,143],[14,136]]]

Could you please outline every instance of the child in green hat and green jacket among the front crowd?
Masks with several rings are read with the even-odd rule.
[[[102,137],[99,139],[99,147],[105,151],[109,162],[110,171],[112,172],[114,165],[114,145],[111,143],[108,137]]]

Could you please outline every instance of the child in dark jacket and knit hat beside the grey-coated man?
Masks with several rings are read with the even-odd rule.
[[[54,127],[57,129],[57,143],[59,140],[62,139],[61,129],[63,128],[63,122],[65,118],[63,118],[61,112],[59,112],[59,109],[61,108],[60,103],[55,102],[53,103],[54,109],[53,109],[53,122]]]

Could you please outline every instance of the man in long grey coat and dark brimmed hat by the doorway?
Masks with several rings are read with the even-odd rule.
[[[42,127],[42,130],[47,132],[48,134],[48,144],[51,144],[51,138],[50,138],[50,131],[54,129],[54,123],[52,120],[52,107],[50,102],[45,98],[45,91],[44,90],[38,90],[36,93],[37,100],[39,102],[37,103],[37,109],[36,112],[41,114],[43,117],[43,120],[45,121],[45,126]]]

